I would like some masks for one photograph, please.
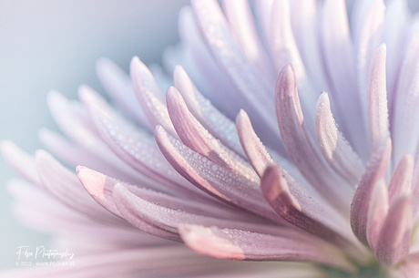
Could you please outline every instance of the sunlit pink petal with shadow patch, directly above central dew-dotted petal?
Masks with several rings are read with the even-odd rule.
[[[176,132],[183,143],[203,157],[231,170],[249,180],[259,181],[249,163],[232,150],[225,147],[220,140],[202,127],[193,117],[176,88],[169,88],[166,94],[169,116]]]

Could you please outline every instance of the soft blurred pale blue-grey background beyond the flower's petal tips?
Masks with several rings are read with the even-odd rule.
[[[33,153],[41,127],[56,129],[46,94],[77,98],[87,84],[103,92],[95,73],[99,57],[128,71],[139,56],[160,62],[179,40],[179,9],[188,0],[0,0],[0,140]],[[48,245],[48,238],[15,221],[6,181],[17,175],[0,158],[0,269],[11,268],[16,247]]]

